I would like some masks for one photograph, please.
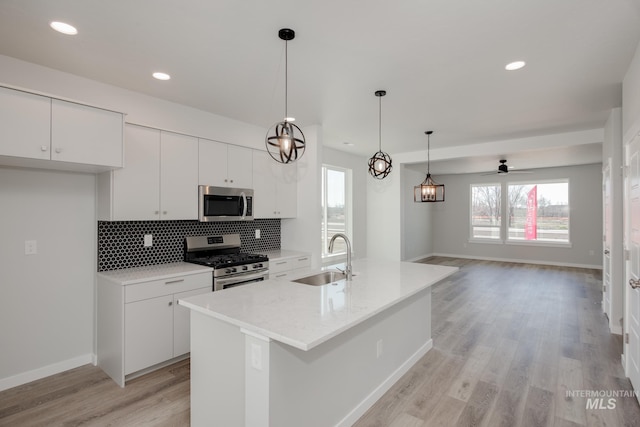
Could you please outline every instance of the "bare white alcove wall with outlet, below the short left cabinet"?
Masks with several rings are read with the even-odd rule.
[[[0,167],[0,390],[92,361],[94,194],[94,175]]]

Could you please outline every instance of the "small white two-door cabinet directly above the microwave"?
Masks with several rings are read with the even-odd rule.
[[[252,150],[200,139],[199,183],[216,187],[253,188]]]

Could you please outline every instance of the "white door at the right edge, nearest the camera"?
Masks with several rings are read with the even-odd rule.
[[[629,251],[627,262],[626,326],[629,334],[626,348],[626,374],[634,390],[640,390],[640,134],[627,145],[627,176],[625,201],[626,241]]]

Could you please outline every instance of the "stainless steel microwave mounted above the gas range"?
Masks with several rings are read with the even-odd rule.
[[[253,190],[198,186],[198,219],[202,222],[253,220]]]

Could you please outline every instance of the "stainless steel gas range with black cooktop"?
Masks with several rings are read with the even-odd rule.
[[[214,291],[269,278],[269,258],[240,252],[239,234],[187,236],[184,260],[213,268]]]

